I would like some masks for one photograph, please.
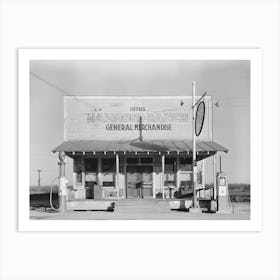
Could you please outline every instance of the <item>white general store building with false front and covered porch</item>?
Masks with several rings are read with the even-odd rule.
[[[199,97],[198,97],[199,98]],[[204,160],[227,149],[213,141],[211,97],[196,143],[198,188]],[[173,198],[192,187],[192,100],[176,97],[64,97],[64,141],[73,159],[74,199]]]

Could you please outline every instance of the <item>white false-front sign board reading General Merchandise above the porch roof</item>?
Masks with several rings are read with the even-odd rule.
[[[65,140],[132,140],[139,137],[140,130],[144,140],[191,139],[191,105],[188,97],[65,96]],[[205,105],[204,125],[198,139],[211,140],[209,97]]]

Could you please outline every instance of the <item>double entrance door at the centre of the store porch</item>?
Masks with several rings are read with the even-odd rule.
[[[153,197],[153,166],[132,165],[126,169],[127,198]]]

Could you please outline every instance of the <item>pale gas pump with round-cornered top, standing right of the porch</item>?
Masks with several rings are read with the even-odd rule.
[[[223,172],[217,173],[217,189],[218,189],[218,213],[231,213],[232,205],[228,191],[227,176]]]

